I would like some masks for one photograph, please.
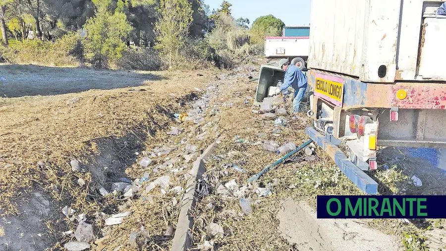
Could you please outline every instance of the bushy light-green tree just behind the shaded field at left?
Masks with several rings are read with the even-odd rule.
[[[122,12],[126,2],[118,1],[113,13],[109,10],[111,0],[93,0],[93,3],[97,8],[95,16],[84,25],[87,32],[85,58],[95,67],[108,67],[110,60],[121,57],[126,48],[123,38],[132,27]]]

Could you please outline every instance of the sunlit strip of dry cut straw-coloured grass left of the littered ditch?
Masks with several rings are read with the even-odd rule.
[[[161,125],[167,126],[172,119],[163,108],[182,112],[176,104],[178,100],[194,87],[201,88],[214,72],[200,71],[204,76],[197,73],[152,72],[151,75],[161,80],[148,80],[132,88],[0,99],[0,207],[3,212],[16,212],[13,199],[31,186],[51,191],[56,200],[64,192],[79,193],[72,186],[76,175],[69,161],[81,157],[85,151],[94,151],[87,142],[107,135],[121,136],[135,127],[144,127],[150,132],[164,129]],[[128,73],[120,74],[125,77]],[[99,74],[97,79],[100,78]],[[44,165],[38,166],[38,162]],[[79,199],[81,205],[84,198]]]

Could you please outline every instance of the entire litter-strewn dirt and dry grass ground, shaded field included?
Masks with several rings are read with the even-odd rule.
[[[0,65],[6,78],[0,83],[0,250],[64,250],[77,240],[80,214],[93,229],[90,250],[170,250],[168,230],[176,227],[192,161],[213,142],[190,212],[190,250],[442,250],[441,220],[316,219],[318,194],[362,194],[317,147],[247,182],[280,157],[265,149],[265,140],[299,145],[311,126],[304,114],[259,113],[257,84],[249,80],[260,63],[229,72]],[[282,101],[279,107],[288,109],[290,99]],[[186,120],[175,118],[182,113]],[[286,123],[277,125],[276,118]],[[383,149],[380,164],[389,167],[371,174],[381,194],[444,194],[440,173],[399,152]],[[412,175],[423,187],[410,183]],[[135,189],[130,197],[113,191],[122,181]],[[251,213],[241,210],[240,198]],[[64,206],[77,212],[66,217]],[[106,226],[117,213],[129,216]]]

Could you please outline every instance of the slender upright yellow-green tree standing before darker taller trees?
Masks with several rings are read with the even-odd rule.
[[[169,66],[177,63],[192,23],[192,6],[188,0],[161,0],[155,32],[156,49],[167,55]]]

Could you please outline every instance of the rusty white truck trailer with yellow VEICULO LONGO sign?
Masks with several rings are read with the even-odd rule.
[[[306,132],[366,193],[377,185],[358,170],[378,168],[378,147],[446,148],[442,3],[312,0]]]

